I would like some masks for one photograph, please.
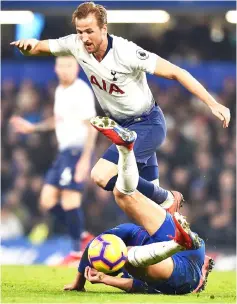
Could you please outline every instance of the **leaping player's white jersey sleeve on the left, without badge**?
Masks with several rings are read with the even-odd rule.
[[[49,39],[50,52],[55,56],[73,55],[77,44],[77,35],[72,34],[58,39]]]

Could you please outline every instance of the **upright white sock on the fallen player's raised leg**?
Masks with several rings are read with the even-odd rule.
[[[124,194],[132,194],[138,185],[139,173],[133,150],[117,146],[119,151],[116,188]]]

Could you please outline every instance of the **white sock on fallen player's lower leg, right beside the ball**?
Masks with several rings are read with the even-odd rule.
[[[128,261],[134,267],[146,267],[159,263],[173,254],[185,250],[174,240],[132,247],[128,251]]]

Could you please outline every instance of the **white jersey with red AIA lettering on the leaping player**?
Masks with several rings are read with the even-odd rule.
[[[124,38],[108,36],[112,47],[101,62],[84,48],[77,34],[50,39],[52,54],[73,55],[85,71],[107,116],[117,121],[149,112],[154,99],[146,72],[153,74],[158,56]]]

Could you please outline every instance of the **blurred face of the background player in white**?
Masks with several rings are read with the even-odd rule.
[[[74,82],[78,76],[79,66],[74,57],[57,57],[55,64],[55,73],[59,82],[70,84]]]

